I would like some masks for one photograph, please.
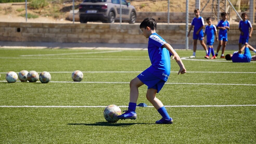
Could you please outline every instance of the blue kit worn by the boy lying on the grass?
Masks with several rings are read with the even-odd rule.
[[[234,52],[233,56],[231,57],[232,62],[250,62],[252,59],[251,53],[249,48],[244,49],[244,54],[239,54],[237,51]]]

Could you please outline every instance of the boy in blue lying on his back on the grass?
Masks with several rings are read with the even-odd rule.
[[[232,62],[250,62],[250,61],[255,61],[256,60],[256,55],[251,56],[250,50],[253,50],[254,52],[256,51],[254,48],[251,48],[251,45],[248,43],[245,43],[245,45],[239,50],[235,51],[232,54],[227,54],[225,56],[226,60],[232,60]],[[245,50],[244,54],[241,54],[242,51]]]

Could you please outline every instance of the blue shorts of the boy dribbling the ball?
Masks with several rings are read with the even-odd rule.
[[[156,89],[157,93],[163,88],[165,81],[151,74],[148,70],[144,70],[138,76],[140,81],[148,86],[148,89]]]

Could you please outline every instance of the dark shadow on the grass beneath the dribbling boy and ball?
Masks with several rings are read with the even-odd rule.
[[[114,126],[114,127],[128,127],[131,125],[145,125],[152,123],[110,123],[110,122],[96,122],[96,123],[68,123],[68,125],[85,125],[85,126]]]

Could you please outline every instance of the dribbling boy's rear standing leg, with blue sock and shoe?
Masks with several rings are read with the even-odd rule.
[[[165,109],[163,103],[156,98],[156,89],[148,89],[146,97],[149,100],[149,102],[157,109],[159,114],[163,117],[161,120],[156,121],[158,124],[171,124],[173,123],[172,118],[169,116],[167,110]]]

